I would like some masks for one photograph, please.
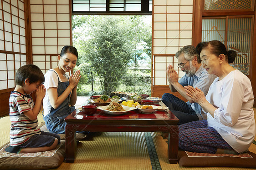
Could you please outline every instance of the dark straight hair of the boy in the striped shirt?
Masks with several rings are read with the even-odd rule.
[[[29,80],[30,84],[36,83],[38,81],[40,81],[42,84],[45,81],[45,76],[40,68],[36,65],[23,65],[16,72],[15,84],[23,86],[23,83],[26,79]]]

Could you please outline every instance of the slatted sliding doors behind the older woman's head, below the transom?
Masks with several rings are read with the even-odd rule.
[[[226,24],[227,22],[227,24]],[[252,18],[203,19],[202,41],[220,40],[227,50],[235,50],[237,57],[230,64],[249,75],[251,58]]]

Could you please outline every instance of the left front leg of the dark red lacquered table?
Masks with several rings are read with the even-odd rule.
[[[66,162],[74,163],[76,153],[77,153],[77,138],[76,138],[76,128],[74,125],[66,125]]]

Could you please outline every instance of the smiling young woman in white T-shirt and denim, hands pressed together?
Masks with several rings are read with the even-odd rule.
[[[46,96],[43,106],[47,129],[61,134],[65,133],[67,124],[64,119],[75,110],[73,105],[77,101],[77,84],[81,75],[79,70],[70,77],[66,74],[76,66],[78,53],[75,47],[64,46],[57,58],[58,66],[45,74]]]

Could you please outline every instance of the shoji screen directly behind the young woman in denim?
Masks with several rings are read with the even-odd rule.
[[[30,0],[33,64],[43,73],[56,67],[56,56],[72,44],[70,0]]]

